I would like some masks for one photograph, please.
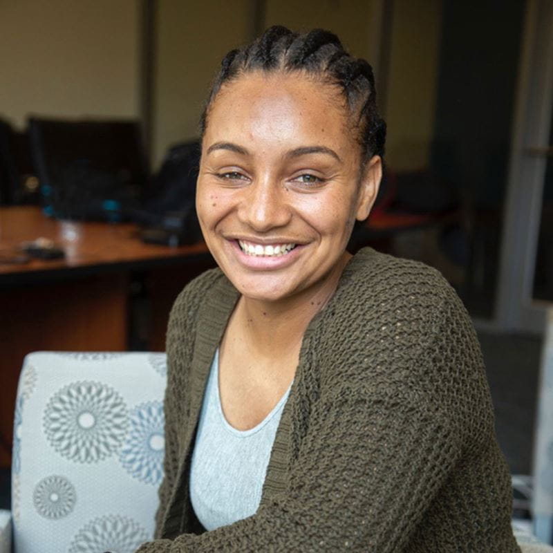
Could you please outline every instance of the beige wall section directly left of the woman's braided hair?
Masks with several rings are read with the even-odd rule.
[[[209,84],[223,56],[245,44],[250,0],[158,0],[153,165],[167,147],[198,136]]]

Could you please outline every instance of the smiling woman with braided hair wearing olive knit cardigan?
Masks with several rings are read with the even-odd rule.
[[[438,272],[346,243],[382,176],[371,67],[273,27],[225,57],[197,210],[218,270],[167,335],[146,552],[516,552],[467,312]]]

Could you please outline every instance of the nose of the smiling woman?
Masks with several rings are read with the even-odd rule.
[[[283,227],[290,221],[288,190],[272,178],[254,180],[245,189],[238,217],[256,232]]]

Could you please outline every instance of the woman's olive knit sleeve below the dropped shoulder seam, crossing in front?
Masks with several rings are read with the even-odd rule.
[[[140,553],[401,551],[461,451],[447,417],[417,403],[346,389],[328,397],[285,494],[243,521]]]

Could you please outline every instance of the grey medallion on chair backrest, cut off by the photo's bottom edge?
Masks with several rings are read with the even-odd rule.
[[[68,553],[133,553],[147,540],[146,530],[132,518],[106,515],[82,527]]]

